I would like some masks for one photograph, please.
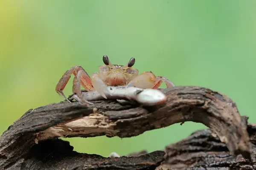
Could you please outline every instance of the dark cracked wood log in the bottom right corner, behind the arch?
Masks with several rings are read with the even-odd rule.
[[[243,117],[247,121],[247,117]],[[163,170],[256,170],[256,125],[249,124],[247,132],[252,144],[252,161],[241,155],[231,155],[226,144],[212,130],[198,130],[186,139],[166,147]],[[157,168],[157,170],[160,170]]]

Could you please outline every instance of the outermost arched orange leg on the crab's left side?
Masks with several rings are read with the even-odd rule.
[[[59,80],[59,82],[55,88],[55,91],[59,95],[64,97],[64,99],[67,100],[67,97],[64,95],[63,90],[64,90],[65,86],[67,85],[67,82],[69,81],[69,79],[71,77],[71,74],[74,74],[74,76],[76,76],[80,70],[82,72],[84,72],[84,74],[81,77],[81,85],[83,86],[83,88],[85,88],[85,90],[87,90],[87,91],[94,90],[90,76],[87,74],[87,72],[84,70],[84,68],[82,68],[79,65],[75,65],[63,74],[63,76],[61,77],[61,79]]]

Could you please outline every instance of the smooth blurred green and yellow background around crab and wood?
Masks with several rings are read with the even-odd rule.
[[[91,75],[107,54],[136,58],[176,85],[230,96],[256,122],[255,0],[0,0],[0,133],[30,108],[63,100],[55,85],[73,65]],[[162,86],[164,87],[164,86]],[[64,90],[72,94],[72,80]],[[76,151],[108,156],[163,149],[198,129],[194,122],[127,139],[72,138]]]

